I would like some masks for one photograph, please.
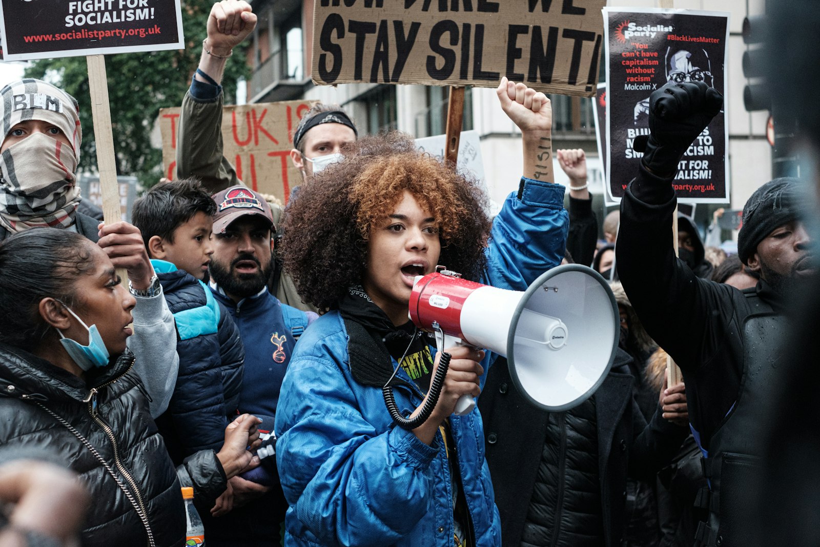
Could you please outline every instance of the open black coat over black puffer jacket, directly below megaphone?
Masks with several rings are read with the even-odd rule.
[[[681,446],[688,431],[656,413],[649,425],[632,396],[630,358],[618,350],[612,370],[593,395],[598,429],[598,471],[605,545],[620,545],[626,475],[654,476]],[[501,515],[503,545],[521,545],[535,474],[541,461],[549,413],[519,394],[507,362],[499,359],[478,399],[484,420],[486,458]]]

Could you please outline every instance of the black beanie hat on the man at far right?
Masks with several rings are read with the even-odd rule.
[[[768,181],[751,195],[743,207],[743,225],[737,236],[740,262],[748,264],[763,239],[778,226],[798,217],[798,184],[795,178],[782,177]]]

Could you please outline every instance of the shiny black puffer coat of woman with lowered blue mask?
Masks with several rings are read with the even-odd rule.
[[[154,545],[183,545],[185,541],[180,481],[148,412],[142,384],[129,372],[133,362],[133,354],[125,353],[83,380],[31,353],[0,344],[0,444],[57,453],[80,474],[92,499],[81,536],[83,545],[149,544],[137,510],[111,474],[48,411],[89,441],[130,491],[139,513],[144,507]],[[208,451],[197,457],[188,463],[187,475],[194,481],[202,478],[210,458],[212,471],[218,467],[224,490],[225,475],[216,455]],[[213,481],[203,484],[211,489],[215,486]],[[221,490],[216,485],[214,493]]]

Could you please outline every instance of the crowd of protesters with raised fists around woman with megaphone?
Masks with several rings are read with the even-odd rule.
[[[715,89],[651,94],[640,169],[602,226],[584,151],[556,151],[567,211],[549,98],[506,78],[523,172],[495,217],[409,135],[362,136],[321,103],[294,131],[303,180],[281,207],[223,156],[222,73],[255,25],[244,0],[212,7],[179,179],[132,223],[79,210],[75,100],[40,80],[0,90],[2,547],[191,545],[181,487],[212,547],[816,543],[801,447],[818,442],[798,424],[816,416],[818,308],[803,338],[789,321],[818,300],[803,185],[759,181],[736,255],[685,215],[671,237],[672,180]],[[574,408],[536,408],[503,357],[442,351],[408,320],[438,265],[522,291],[567,262],[599,272],[620,317],[611,367]],[[477,408],[454,413],[466,395]]]

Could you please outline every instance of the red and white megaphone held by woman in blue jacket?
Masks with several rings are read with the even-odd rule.
[[[612,290],[598,272],[578,264],[554,267],[523,292],[446,270],[418,276],[410,318],[436,334],[439,350],[470,344],[507,358],[517,389],[553,412],[576,406],[598,389],[620,335]],[[475,399],[465,395],[455,413],[474,406]]]

